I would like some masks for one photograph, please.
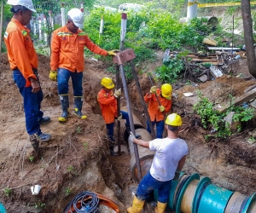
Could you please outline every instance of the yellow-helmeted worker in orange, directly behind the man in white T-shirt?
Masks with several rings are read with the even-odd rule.
[[[161,89],[156,89],[155,86],[151,87],[148,94],[144,96],[144,101],[148,103],[148,114],[153,127],[156,124],[156,137],[162,138],[165,130],[165,114],[172,107],[171,84],[165,83],[161,86]],[[147,130],[151,133],[148,122],[147,120]]]

